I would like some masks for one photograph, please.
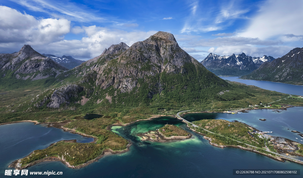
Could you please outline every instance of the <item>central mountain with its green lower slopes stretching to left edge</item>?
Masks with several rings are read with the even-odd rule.
[[[161,31],[131,47],[112,45],[46,79],[15,75],[2,78],[6,83],[0,93],[7,94],[1,95],[0,122],[60,121],[98,113],[128,123],[187,109],[244,108],[288,96],[219,78],[182,50],[172,34]]]

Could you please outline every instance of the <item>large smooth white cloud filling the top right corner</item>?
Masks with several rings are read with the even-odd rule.
[[[267,39],[285,34],[303,35],[303,1],[268,0],[238,36]]]

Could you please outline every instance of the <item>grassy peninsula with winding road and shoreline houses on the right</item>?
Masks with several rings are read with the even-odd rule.
[[[280,161],[283,161],[285,159],[290,161],[294,160],[285,157],[279,157],[279,155],[275,153],[285,154],[285,156],[293,155],[303,157],[303,146],[298,142],[291,141],[282,137],[273,137],[268,134],[260,133],[259,131],[256,131],[255,128],[252,128],[241,122],[229,122],[222,119],[205,119],[194,121],[192,123],[198,125],[201,128],[194,127],[189,123],[188,126],[191,128],[191,130],[203,134],[204,138],[208,139],[210,141],[210,144],[216,147],[237,147],[263,154]],[[246,144],[249,144],[251,146]]]

